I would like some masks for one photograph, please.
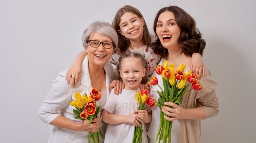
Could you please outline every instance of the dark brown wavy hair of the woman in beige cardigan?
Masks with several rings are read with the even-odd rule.
[[[193,53],[199,53],[203,55],[205,48],[205,41],[202,39],[201,33],[196,28],[196,21],[183,9],[178,6],[169,6],[160,9],[154,20],[154,32],[156,34],[157,20],[159,15],[163,12],[170,11],[173,12],[175,20],[180,29],[180,35],[178,38],[178,44],[182,48],[182,53],[186,56],[192,56]],[[159,37],[156,34],[156,41],[150,46],[153,47],[154,53],[159,54],[161,57],[167,58],[168,50],[164,48],[160,42]]]

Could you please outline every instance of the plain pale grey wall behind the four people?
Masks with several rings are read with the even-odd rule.
[[[86,26],[112,23],[124,5],[140,10],[152,34],[165,6],[177,5],[196,20],[221,105],[218,116],[202,120],[202,142],[255,142],[254,0],[0,0],[0,142],[47,142],[52,126],[37,112],[52,81],[83,50]]]

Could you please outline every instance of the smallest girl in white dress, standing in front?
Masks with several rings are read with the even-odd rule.
[[[146,110],[136,111],[135,99],[142,77],[147,73],[147,62],[139,53],[126,53],[120,58],[117,69],[125,88],[119,96],[111,90],[103,107],[102,120],[108,123],[105,143],[132,143],[134,126],[141,126],[139,122],[143,128],[142,142],[148,143],[144,123],[151,122],[151,114]]]

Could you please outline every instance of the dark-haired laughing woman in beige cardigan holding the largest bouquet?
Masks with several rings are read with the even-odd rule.
[[[175,67],[180,63],[189,65],[194,51],[203,53],[205,41],[196,29],[194,19],[183,9],[177,6],[169,6],[159,10],[154,21],[154,32],[157,40],[154,42],[154,52],[160,54],[163,61],[174,63]],[[184,71],[187,71],[186,67]],[[162,77],[155,75],[162,84]],[[179,106],[173,102],[165,102],[167,106],[162,107],[166,120],[173,121],[171,131],[171,143],[200,143],[201,131],[200,120],[216,116],[219,113],[219,101],[215,88],[217,83],[211,79],[210,71],[205,70],[205,76],[200,79],[204,87],[199,90],[191,90],[182,99]],[[190,87],[188,87],[190,88]],[[150,95],[155,99],[159,95],[153,91],[160,90],[157,86],[151,86]],[[172,108],[170,108],[172,107]],[[152,108],[152,122],[148,129],[150,142],[156,138],[159,127],[160,108]]]

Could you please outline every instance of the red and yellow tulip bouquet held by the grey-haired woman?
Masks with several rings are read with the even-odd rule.
[[[75,101],[71,101],[69,104],[76,107],[73,110],[75,119],[89,120],[89,123],[92,122],[94,118],[97,117],[97,114],[100,111],[100,106],[96,107],[96,102],[101,98],[101,93],[99,90],[93,88],[88,97],[86,94],[83,96],[80,95],[80,92],[75,93]],[[99,129],[97,132],[88,132],[88,143],[90,143],[91,138],[93,138],[94,143],[99,143],[99,137],[103,138],[103,135]],[[104,138],[103,138],[104,139]]]

